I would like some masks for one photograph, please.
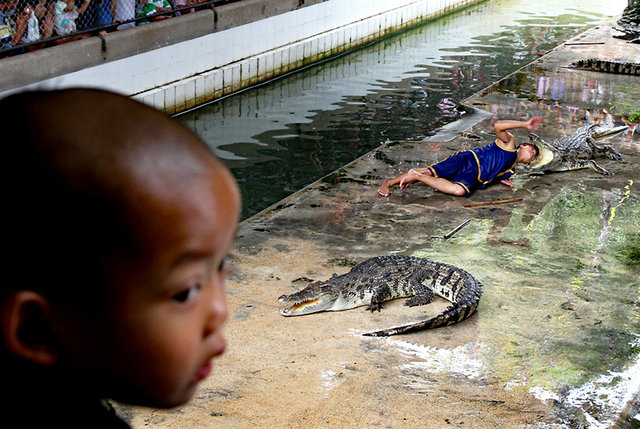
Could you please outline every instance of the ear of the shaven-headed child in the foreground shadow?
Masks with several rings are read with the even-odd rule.
[[[57,361],[51,305],[39,293],[14,292],[2,307],[2,335],[6,348],[17,357],[38,365]]]

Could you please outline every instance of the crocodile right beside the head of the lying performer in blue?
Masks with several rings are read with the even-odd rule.
[[[599,166],[594,160],[595,155],[607,155],[610,159],[621,160],[622,156],[611,146],[597,145],[596,140],[618,134],[629,128],[603,127],[598,124],[588,124],[578,128],[571,136],[550,143],[542,140],[537,134],[531,133],[529,138],[538,148],[539,155],[529,164],[529,172],[542,174],[546,171],[568,171],[579,168],[592,168],[600,174],[610,176],[612,173]]]

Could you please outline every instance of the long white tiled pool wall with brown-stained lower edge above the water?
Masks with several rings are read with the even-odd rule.
[[[97,86],[175,113],[479,1],[329,0],[37,86]]]

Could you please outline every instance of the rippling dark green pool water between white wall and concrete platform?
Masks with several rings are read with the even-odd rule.
[[[490,1],[178,118],[231,168],[246,218],[387,140],[422,139],[459,114],[445,100],[486,88],[625,5]]]

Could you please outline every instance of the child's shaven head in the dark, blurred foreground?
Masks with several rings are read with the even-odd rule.
[[[225,349],[232,176],[187,128],[109,92],[22,93],[0,115],[2,363],[98,398],[188,401]]]

